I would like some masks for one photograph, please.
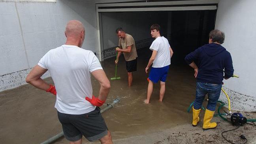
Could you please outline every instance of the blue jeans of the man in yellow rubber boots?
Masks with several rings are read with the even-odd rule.
[[[201,109],[205,95],[208,93],[207,109],[215,111],[216,103],[220,97],[221,84],[196,82],[196,100],[194,109]]]

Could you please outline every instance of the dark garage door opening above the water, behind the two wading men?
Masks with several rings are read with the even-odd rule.
[[[134,37],[137,51],[140,54],[150,56],[148,48],[154,39],[149,29],[152,24],[156,23],[161,26],[161,36],[168,39],[173,49],[171,64],[184,65],[186,54],[208,43],[208,34],[215,27],[216,10],[104,12],[99,14],[102,59],[115,56],[115,47],[118,46],[119,41],[115,30],[119,27]]]

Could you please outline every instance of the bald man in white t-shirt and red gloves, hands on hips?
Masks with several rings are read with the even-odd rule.
[[[28,74],[26,82],[56,95],[55,108],[70,144],[81,144],[83,135],[89,141],[112,144],[99,108],[107,99],[110,82],[94,53],[81,48],[85,39],[83,24],[69,21],[65,35],[66,43],[49,50]],[[47,70],[55,86],[40,78]],[[97,98],[92,95],[90,74],[100,83]]]

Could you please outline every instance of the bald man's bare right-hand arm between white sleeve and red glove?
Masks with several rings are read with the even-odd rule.
[[[107,99],[107,95],[109,94],[110,82],[104,70],[94,70],[93,72],[91,72],[91,74],[100,83],[100,92],[99,92],[98,99],[105,101]]]

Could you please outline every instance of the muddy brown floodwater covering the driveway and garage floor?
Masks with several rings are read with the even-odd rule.
[[[162,131],[191,123],[192,120],[192,114],[187,113],[186,109],[195,96],[194,70],[186,65],[171,65],[163,102],[158,102],[160,85],[157,83],[154,85],[151,103],[144,104],[148,85],[145,66],[151,52],[144,48],[139,50],[138,56],[132,87],[128,87],[122,55],[117,68],[117,76],[121,79],[110,80],[111,90],[106,103],[111,103],[117,97],[121,101],[102,115],[114,140]],[[115,76],[114,58],[106,59],[102,66],[109,79]],[[53,83],[51,78],[45,80]],[[92,86],[97,96],[100,85],[94,78]],[[31,85],[0,92],[0,143],[36,144],[61,132],[54,104],[55,96]],[[55,143],[68,141],[61,138]]]

